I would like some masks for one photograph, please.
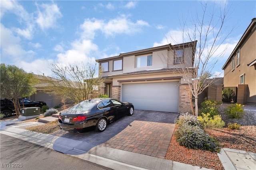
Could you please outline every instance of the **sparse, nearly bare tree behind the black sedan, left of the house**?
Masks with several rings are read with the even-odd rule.
[[[59,63],[50,66],[54,78],[45,77],[48,83],[45,91],[59,95],[62,99],[71,98],[75,103],[93,97],[102,78],[98,76],[95,64],[76,63],[62,65]]]

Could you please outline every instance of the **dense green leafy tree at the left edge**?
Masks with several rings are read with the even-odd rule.
[[[32,73],[26,73],[15,65],[1,64],[1,97],[12,99],[17,117],[20,115],[18,99],[35,93],[36,88],[32,86],[36,82]]]

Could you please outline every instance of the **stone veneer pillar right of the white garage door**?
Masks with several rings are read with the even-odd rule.
[[[189,85],[180,85],[180,101],[179,101],[179,112],[180,113],[192,113],[189,99]]]

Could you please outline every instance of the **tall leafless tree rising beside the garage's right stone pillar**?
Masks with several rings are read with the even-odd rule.
[[[198,116],[198,95],[204,91],[207,87],[212,85],[216,80],[213,78],[210,81],[208,78],[212,75],[212,70],[223,57],[228,45],[225,45],[225,41],[230,36],[234,28],[228,28],[227,34],[224,34],[228,10],[226,10],[226,4],[216,14],[214,6],[211,12],[206,12],[208,9],[208,2],[201,2],[203,10],[202,16],[196,15],[196,18],[190,20],[192,22],[192,28],[189,28],[189,24],[186,21],[182,24],[182,40],[183,42],[196,42],[194,56],[191,62],[187,62],[186,59],[181,61],[176,70],[183,76],[184,83],[189,85],[190,91],[195,99],[195,115]],[[173,37],[170,37],[172,41],[176,41]],[[170,45],[170,49],[173,49]],[[193,50],[192,50],[193,51]],[[175,55],[175,54],[174,54]],[[189,54],[185,54],[189,55]],[[193,67],[193,69],[191,69]]]

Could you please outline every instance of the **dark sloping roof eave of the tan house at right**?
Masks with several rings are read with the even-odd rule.
[[[250,25],[248,26],[248,28],[246,29],[246,31],[244,32],[243,36],[241,37],[241,39],[239,40],[239,42],[237,43],[236,47],[234,48],[234,50],[232,51],[232,53],[230,54],[230,56],[228,57],[228,60],[226,61],[226,63],[224,64],[224,66],[222,67],[222,69],[224,70],[226,68],[226,66],[230,63],[232,57],[236,54],[236,51],[239,49],[239,47],[242,45],[242,43],[244,43],[244,41],[246,40],[246,38],[251,34],[252,31],[256,30],[256,18],[252,19],[252,22],[250,23]]]

